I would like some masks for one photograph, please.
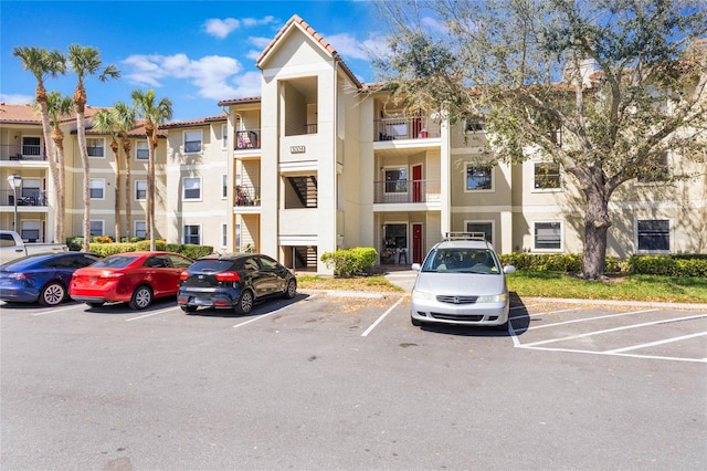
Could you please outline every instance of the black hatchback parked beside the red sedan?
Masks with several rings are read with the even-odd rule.
[[[199,307],[247,314],[270,296],[292,299],[297,279],[284,265],[258,253],[212,254],[197,260],[181,274],[177,303],[182,311]]]

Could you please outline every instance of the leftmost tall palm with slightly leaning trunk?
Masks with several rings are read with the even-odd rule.
[[[52,129],[49,121],[48,95],[44,81],[48,77],[63,75],[66,71],[66,57],[56,50],[48,51],[43,48],[19,46],[12,50],[12,54],[22,61],[22,67],[28,70],[36,78],[34,91],[34,102],[39,105],[42,115],[42,133],[44,135],[44,146],[46,159],[49,160],[49,172],[54,186],[54,242],[64,241],[64,179],[63,168],[57,169],[55,155],[52,148]],[[63,165],[59,166],[63,167]]]

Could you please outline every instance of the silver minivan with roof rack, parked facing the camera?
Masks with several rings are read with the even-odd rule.
[[[493,245],[484,239],[445,240],[430,250],[412,287],[411,322],[508,326],[506,273]]]

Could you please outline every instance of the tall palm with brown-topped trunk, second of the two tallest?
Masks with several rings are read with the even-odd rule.
[[[94,75],[98,73],[98,80],[105,82],[108,78],[117,78],[120,76],[120,72],[110,64],[99,72],[103,61],[98,56],[98,50],[91,46],[83,46],[80,44],[72,44],[68,46],[68,64],[71,69],[76,73],[78,82],[74,90],[74,106],[76,109],[76,132],[78,134],[78,150],[81,153],[81,161],[83,164],[84,171],[84,223],[83,236],[85,251],[88,251],[88,244],[91,243],[91,180],[88,179],[88,149],[86,149],[86,88],[84,87],[84,80],[87,75]]]

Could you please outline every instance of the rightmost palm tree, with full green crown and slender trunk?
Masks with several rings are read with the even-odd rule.
[[[155,91],[136,90],[131,94],[133,103],[140,117],[145,118],[145,134],[148,142],[147,160],[147,230],[150,237],[150,250],[155,250],[155,150],[160,123],[171,119],[172,102],[162,98],[156,103]]]

